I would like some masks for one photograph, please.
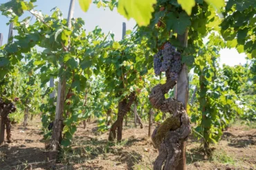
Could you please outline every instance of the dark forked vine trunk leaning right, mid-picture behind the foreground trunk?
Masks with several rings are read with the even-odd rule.
[[[136,99],[135,92],[132,92],[127,98],[123,99],[118,103],[118,119],[110,128],[109,131],[109,141],[113,141],[116,139],[118,142],[122,140],[122,122],[124,120],[124,116],[128,111],[131,110],[131,104],[134,103]],[[117,130],[117,135],[116,135]]]

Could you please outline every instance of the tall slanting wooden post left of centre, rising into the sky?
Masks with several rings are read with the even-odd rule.
[[[73,17],[73,9],[75,6],[75,0],[71,0],[68,11],[68,28],[71,28],[71,18]],[[62,68],[64,63],[61,63]],[[64,96],[66,89],[66,78],[59,77],[58,89],[57,89],[57,105],[55,109],[55,122],[53,125],[53,135],[50,144],[50,161],[55,161],[57,158],[57,152],[62,140],[62,127],[63,127],[63,112],[64,112]]]

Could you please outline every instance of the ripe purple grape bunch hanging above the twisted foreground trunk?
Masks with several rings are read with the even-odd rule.
[[[169,42],[165,43],[163,50],[154,55],[154,71],[156,75],[165,72],[176,81],[181,71],[181,53]]]

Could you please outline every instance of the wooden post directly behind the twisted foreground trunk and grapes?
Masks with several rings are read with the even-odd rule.
[[[183,47],[188,46],[188,29],[182,35],[178,36],[179,41],[182,43]],[[188,67],[183,64],[181,73],[179,74],[179,78],[176,83],[176,99],[179,100],[185,110],[187,110],[188,103]],[[179,165],[177,169],[185,170],[186,169],[186,157],[185,157],[185,148],[186,143],[181,143],[181,156],[179,159]]]

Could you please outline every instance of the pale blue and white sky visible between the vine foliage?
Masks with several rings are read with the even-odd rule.
[[[0,0],[0,3],[6,3],[8,0]],[[63,13],[63,17],[68,16],[70,0],[37,0],[35,5],[36,10],[41,10],[43,14],[51,14],[51,9],[57,7]],[[26,14],[29,16],[29,14]],[[26,16],[26,17],[27,17]],[[79,3],[75,1],[74,18],[81,17],[85,21],[85,29],[87,31],[93,30],[97,25],[102,28],[106,34],[111,31],[115,34],[115,39],[119,41],[122,39],[122,23],[126,23],[127,30],[133,30],[136,22],[133,19],[127,21],[125,17],[118,14],[116,9],[113,11],[106,8],[97,8],[91,4],[87,12],[80,9]],[[6,25],[8,19],[0,14],[0,33],[3,33],[3,44],[7,43],[9,27]],[[230,66],[243,65],[246,63],[246,54],[239,54],[235,49],[223,49],[220,51],[220,65],[226,64]]]

